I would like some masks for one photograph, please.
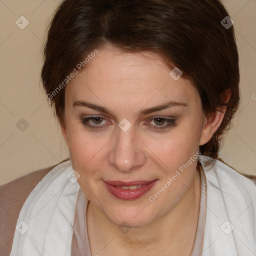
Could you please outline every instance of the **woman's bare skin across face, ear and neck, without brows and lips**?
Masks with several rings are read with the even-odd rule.
[[[62,133],[73,169],[80,175],[77,181],[89,200],[91,255],[191,254],[200,198],[196,160],[154,202],[148,198],[211,138],[224,109],[206,119],[190,81],[182,76],[175,81],[170,70],[152,52],[127,53],[105,45],[65,88]],[[77,100],[110,113],[73,106]],[[141,109],[168,101],[186,106],[139,115]],[[92,115],[105,119],[88,123],[103,127],[93,130],[81,122]],[[154,130],[159,126],[153,119],[157,116],[174,117],[175,125]],[[123,118],[131,124],[127,131],[118,127]],[[160,125],[166,122],[160,119]],[[151,179],[157,179],[155,185],[135,200],[114,197],[102,181]],[[123,221],[131,227],[127,233],[118,228]]]

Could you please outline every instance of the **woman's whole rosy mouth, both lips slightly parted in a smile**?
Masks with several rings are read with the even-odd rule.
[[[134,200],[145,194],[156,183],[157,179],[153,180],[135,180],[135,181],[103,181],[107,190],[116,198],[122,200]],[[133,186],[143,185],[136,189],[122,189],[116,186]]]

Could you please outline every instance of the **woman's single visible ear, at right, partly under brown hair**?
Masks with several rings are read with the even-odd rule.
[[[227,103],[231,97],[231,90],[228,89],[222,94],[222,100]],[[204,145],[207,143],[215,131],[218,129],[220,126],[224,115],[226,111],[226,106],[221,107],[221,109],[209,113],[208,116],[204,116],[204,121],[203,121],[203,127],[201,131],[201,137],[200,137],[200,142],[199,145]]]

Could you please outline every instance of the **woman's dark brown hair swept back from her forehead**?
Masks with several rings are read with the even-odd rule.
[[[93,49],[109,43],[129,52],[152,51],[198,92],[207,116],[226,105],[221,125],[200,152],[218,158],[219,142],[239,104],[238,53],[233,26],[219,0],[64,0],[44,45],[41,79],[64,127],[64,92],[52,92]],[[227,104],[223,92],[231,90]]]

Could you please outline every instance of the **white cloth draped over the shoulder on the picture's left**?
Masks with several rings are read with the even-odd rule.
[[[80,188],[74,180],[68,160],[55,166],[36,185],[19,213],[10,256],[70,256]]]

